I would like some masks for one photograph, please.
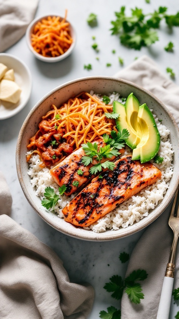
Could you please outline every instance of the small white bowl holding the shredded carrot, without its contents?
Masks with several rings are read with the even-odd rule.
[[[63,59],[65,59],[67,56],[69,56],[73,49],[75,48],[75,43],[76,43],[76,33],[75,33],[75,29],[73,28],[73,26],[71,25],[71,23],[66,20],[66,22],[69,23],[69,28],[70,28],[70,33],[71,33],[71,37],[73,39],[73,42],[71,44],[71,46],[69,47],[69,49],[62,55],[60,56],[55,56],[55,57],[47,57],[47,56],[42,56],[41,54],[37,53],[34,48],[32,47],[31,44],[31,34],[33,32],[34,26],[36,25],[37,22],[41,21],[42,19],[47,19],[48,17],[59,17],[59,15],[56,14],[48,14],[47,16],[43,16],[43,17],[39,17],[34,19],[31,24],[28,26],[27,30],[26,30],[26,41],[28,44],[29,49],[31,50],[31,52],[34,54],[34,56],[44,62],[58,62],[61,61]],[[60,20],[62,20],[63,17],[60,17]]]

